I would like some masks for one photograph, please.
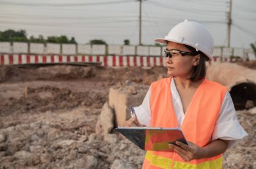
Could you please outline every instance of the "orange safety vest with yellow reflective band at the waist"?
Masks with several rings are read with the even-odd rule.
[[[151,84],[151,127],[179,127],[170,94],[171,78]],[[226,87],[207,79],[201,82],[181,125],[187,141],[200,148],[210,143],[225,95]],[[142,168],[218,169],[222,168],[222,154],[185,162],[176,152],[148,151]]]

